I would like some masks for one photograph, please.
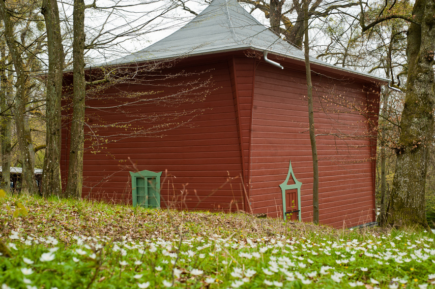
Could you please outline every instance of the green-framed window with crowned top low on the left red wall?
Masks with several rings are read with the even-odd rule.
[[[130,172],[133,207],[160,208],[160,176],[162,172]]]

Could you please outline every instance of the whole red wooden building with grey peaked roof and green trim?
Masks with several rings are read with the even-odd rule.
[[[235,0],[214,0],[176,33],[108,65],[136,75],[86,101],[83,198],[311,220],[304,55]],[[321,223],[374,221],[373,127],[385,79],[315,59],[311,69]],[[64,180],[70,116],[65,109]]]

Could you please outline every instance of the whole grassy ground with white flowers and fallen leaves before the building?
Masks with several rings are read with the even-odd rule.
[[[8,213],[17,201],[27,216]],[[2,289],[435,287],[430,232],[28,196],[0,206]]]

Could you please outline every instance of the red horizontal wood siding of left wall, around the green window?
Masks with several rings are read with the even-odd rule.
[[[131,204],[129,171],[149,170],[163,172],[162,207],[244,210],[227,59],[187,65],[162,70],[152,83],[108,88],[86,102],[83,198]],[[135,104],[119,106],[128,99],[124,91],[154,92],[130,95]],[[65,133],[66,127],[67,121]]]

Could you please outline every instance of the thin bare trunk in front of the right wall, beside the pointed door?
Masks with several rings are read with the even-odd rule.
[[[311,68],[310,68],[310,48],[308,46],[308,0],[304,1],[304,25],[305,25],[305,38],[304,38],[304,52],[305,52],[305,70],[307,74],[307,98],[308,98],[308,122],[311,142],[311,154],[313,159],[313,222],[318,224],[318,160],[317,160],[317,146],[315,142],[314,130],[314,113],[313,113],[313,86],[311,82]]]

